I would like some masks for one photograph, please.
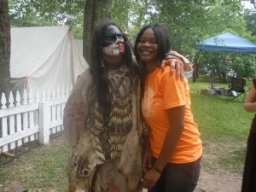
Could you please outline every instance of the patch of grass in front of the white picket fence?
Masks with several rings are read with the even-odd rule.
[[[63,192],[67,188],[65,166],[70,153],[70,147],[64,141],[34,148],[0,168],[0,184],[9,186],[17,181],[24,186],[24,191],[49,192],[55,189]]]

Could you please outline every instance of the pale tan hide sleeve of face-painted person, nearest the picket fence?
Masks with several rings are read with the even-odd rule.
[[[89,70],[80,75],[67,99],[63,114],[63,126],[67,142],[73,147],[79,140],[89,113],[87,92],[91,86]]]

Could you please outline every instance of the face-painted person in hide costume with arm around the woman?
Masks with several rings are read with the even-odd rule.
[[[168,65],[183,66],[182,55],[170,55]],[[142,191],[142,67],[133,58],[127,37],[113,23],[96,27],[90,61],[64,109],[63,125],[73,148],[67,192]]]

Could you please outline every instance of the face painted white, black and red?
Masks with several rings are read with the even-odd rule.
[[[102,52],[105,55],[123,55],[125,44],[122,33],[117,26],[110,25],[103,32]]]

